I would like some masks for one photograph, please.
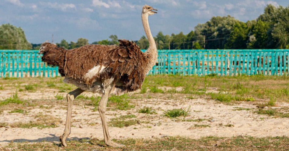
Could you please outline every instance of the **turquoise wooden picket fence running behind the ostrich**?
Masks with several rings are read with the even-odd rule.
[[[288,58],[289,49],[159,50],[148,74],[282,76],[289,73]],[[0,61],[0,77],[60,76],[57,67],[41,62],[37,50],[0,50]]]

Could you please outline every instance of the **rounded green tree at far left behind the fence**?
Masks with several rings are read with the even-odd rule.
[[[26,40],[24,31],[10,24],[0,26],[0,39],[0,49],[29,50],[32,47]]]

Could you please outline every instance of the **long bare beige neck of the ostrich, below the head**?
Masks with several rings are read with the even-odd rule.
[[[144,26],[144,29],[145,29],[145,34],[148,38],[148,43],[149,43],[148,50],[157,51],[157,47],[155,46],[155,40],[154,40],[154,37],[152,37],[152,35],[151,35],[151,30],[150,30],[149,24],[148,24],[148,14],[142,13],[141,14],[141,21],[142,21],[142,25]]]

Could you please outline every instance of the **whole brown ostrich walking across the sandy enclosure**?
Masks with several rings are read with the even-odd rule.
[[[107,146],[122,147],[110,139],[106,123],[106,103],[109,94],[120,95],[141,88],[146,73],[155,65],[158,51],[151,35],[148,16],[157,12],[149,5],[144,5],[141,20],[148,37],[149,47],[143,53],[140,47],[129,40],[118,40],[116,45],[90,44],[66,50],[54,44],[41,44],[39,54],[42,61],[50,66],[58,66],[58,72],[64,76],[63,82],[71,83],[78,88],[67,94],[67,117],[63,135],[59,137],[61,144],[66,145],[70,134],[72,102],[84,91],[101,93],[98,111],[103,126],[104,141]]]

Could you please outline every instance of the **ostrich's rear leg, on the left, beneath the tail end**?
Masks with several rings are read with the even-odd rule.
[[[71,91],[67,94],[67,115],[66,115],[66,123],[65,123],[65,129],[63,135],[59,137],[59,140],[61,141],[61,144],[63,146],[67,146],[65,139],[70,134],[70,124],[71,124],[71,111],[72,111],[72,101],[77,97],[79,94],[84,92],[84,90],[81,90],[79,88],[75,89],[74,91]]]

